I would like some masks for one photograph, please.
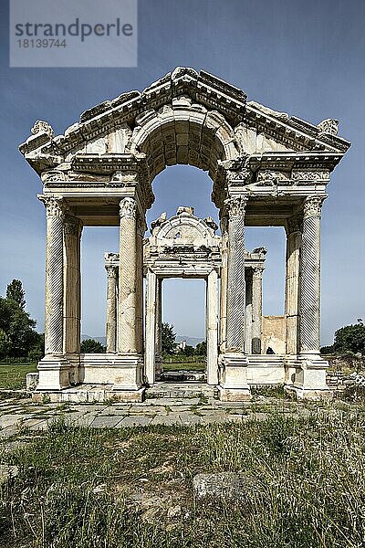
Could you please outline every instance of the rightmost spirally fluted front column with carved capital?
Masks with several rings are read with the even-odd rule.
[[[300,353],[319,353],[320,323],[320,215],[324,197],[304,203],[301,288]]]

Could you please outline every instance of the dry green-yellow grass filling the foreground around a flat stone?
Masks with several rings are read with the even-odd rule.
[[[2,548],[360,548],[365,417],[91,429],[58,422],[3,456]],[[245,474],[244,503],[195,502],[198,472]]]

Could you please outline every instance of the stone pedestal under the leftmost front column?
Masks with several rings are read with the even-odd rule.
[[[46,355],[38,362],[39,381],[36,392],[59,391],[68,388],[70,364],[60,355]]]

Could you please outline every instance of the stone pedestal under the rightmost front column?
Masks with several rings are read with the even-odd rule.
[[[332,398],[332,391],[326,383],[326,369],[328,362],[319,353],[300,353],[297,356],[293,384],[287,384],[288,394],[297,396],[297,399],[319,400]],[[293,375],[292,375],[293,377]]]

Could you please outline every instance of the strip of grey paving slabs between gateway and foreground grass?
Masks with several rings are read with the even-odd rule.
[[[135,427],[148,425],[189,426],[264,420],[267,412],[306,415],[308,408],[297,402],[257,396],[254,401],[224,403],[214,397],[151,397],[143,403],[35,404],[30,398],[0,401],[0,437],[14,436],[23,429],[43,430],[59,417],[83,427]]]

